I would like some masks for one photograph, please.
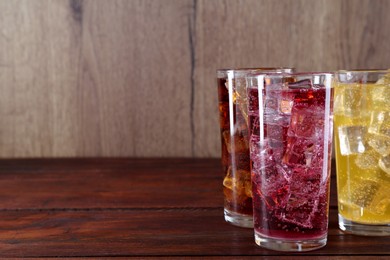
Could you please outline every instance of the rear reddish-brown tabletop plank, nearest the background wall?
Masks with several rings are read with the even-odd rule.
[[[213,207],[222,212],[222,179],[218,159],[1,160],[0,210]],[[334,178],[330,199],[337,208]]]

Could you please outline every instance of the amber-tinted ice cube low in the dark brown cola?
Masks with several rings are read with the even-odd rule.
[[[251,174],[248,171],[233,171],[232,167],[229,167],[223,180],[223,186],[235,191],[235,193],[245,194],[247,197],[252,197]]]

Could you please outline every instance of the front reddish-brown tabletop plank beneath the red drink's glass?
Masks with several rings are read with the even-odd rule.
[[[330,214],[327,246],[299,255],[390,254],[388,238],[342,234]],[[288,255],[258,247],[219,209],[1,211],[0,226],[3,257]]]

